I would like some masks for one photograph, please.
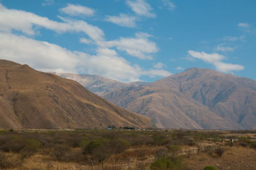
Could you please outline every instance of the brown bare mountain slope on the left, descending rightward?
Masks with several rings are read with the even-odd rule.
[[[119,108],[73,80],[0,60],[0,128],[151,127],[150,118]]]

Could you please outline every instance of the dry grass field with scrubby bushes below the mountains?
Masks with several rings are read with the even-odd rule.
[[[0,131],[0,169],[256,169],[255,131]],[[234,139],[231,147],[230,139]],[[223,143],[224,141],[224,143]]]

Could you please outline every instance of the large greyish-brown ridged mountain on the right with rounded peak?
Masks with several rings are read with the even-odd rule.
[[[193,67],[146,87],[124,87],[103,97],[152,118],[160,128],[256,127],[256,81],[211,69]]]

